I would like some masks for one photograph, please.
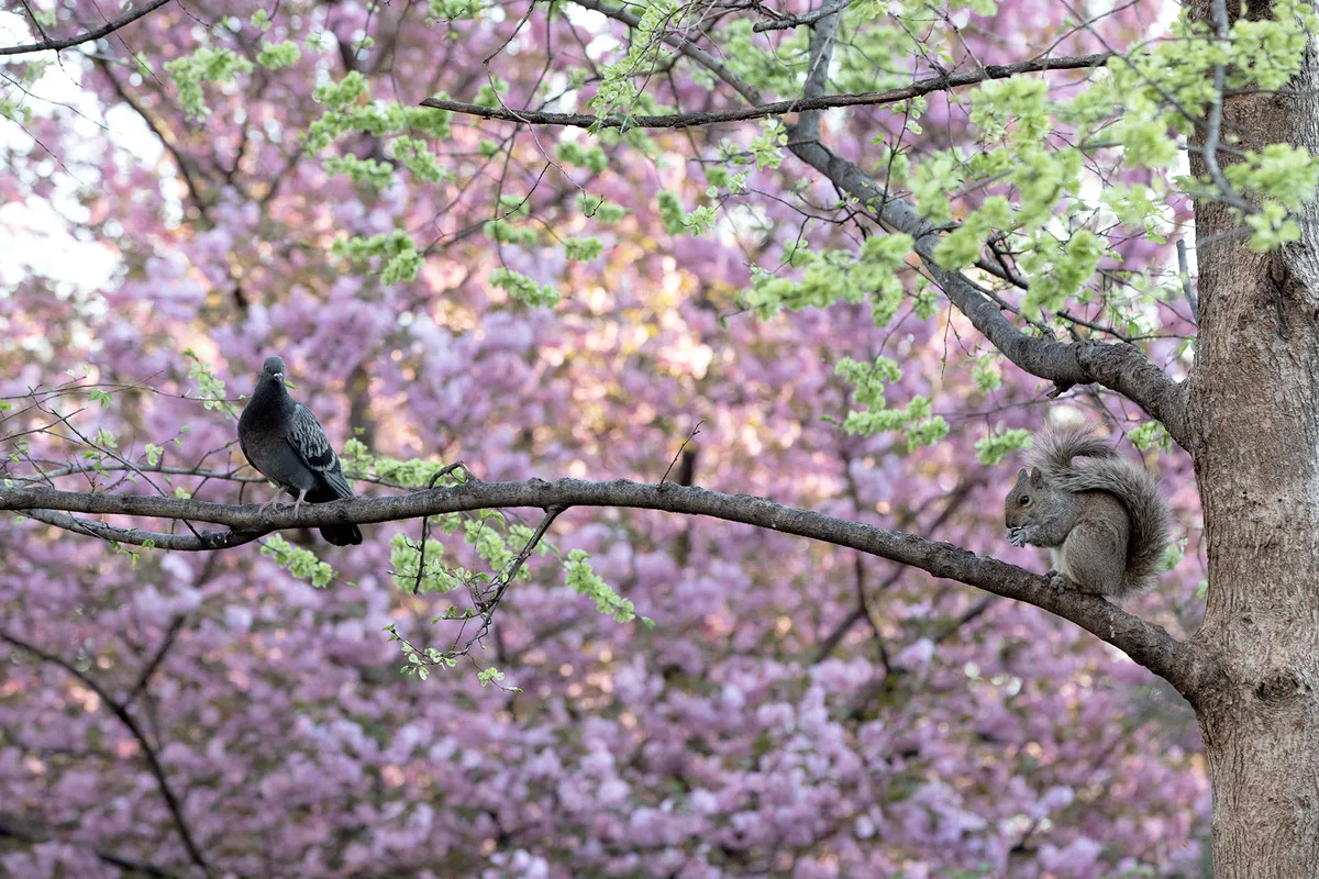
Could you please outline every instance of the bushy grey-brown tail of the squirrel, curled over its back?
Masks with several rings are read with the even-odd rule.
[[[1074,465],[1074,457],[1093,459]],[[1130,519],[1126,542],[1126,589],[1144,592],[1158,582],[1159,560],[1167,548],[1173,515],[1158,486],[1142,470],[1101,440],[1088,426],[1050,427],[1035,435],[1028,467],[1041,468],[1057,488],[1104,492],[1122,505]]]

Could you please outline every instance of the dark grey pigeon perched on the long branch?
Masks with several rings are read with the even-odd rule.
[[[284,360],[266,357],[261,378],[239,418],[239,447],[248,464],[297,499],[326,503],[351,498],[352,489],[343,477],[339,456],[330,447],[324,428],[311,410],[289,397],[284,386]],[[280,499],[276,494],[261,509]],[[336,547],[361,543],[356,525],[327,525],[321,536]]]

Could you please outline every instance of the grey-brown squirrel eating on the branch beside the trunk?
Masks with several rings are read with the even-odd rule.
[[[1125,598],[1155,585],[1171,515],[1153,476],[1089,426],[1046,427],[1026,468],[1004,498],[1008,539],[1049,547],[1055,586]]]

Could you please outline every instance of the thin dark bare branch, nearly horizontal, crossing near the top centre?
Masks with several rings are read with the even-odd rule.
[[[867,107],[874,104],[894,104],[901,100],[919,98],[936,91],[951,91],[963,86],[975,86],[991,79],[1006,79],[1018,74],[1043,72],[1047,70],[1086,70],[1089,67],[1103,67],[1113,55],[1099,53],[1095,55],[1071,55],[1066,58],[1033,58],[1014,65],[991,65],[979,70],[960,74],[947,74],[944,76],[930,76],[918,79],[910,86],[901,88],[888,88],[885,91],[848,92],[843,95],[818,95],[814,98],[798,98],[794,100],[776,100],[768,104],[757,103],[752,107],[737,109],[724,109],[718,112],[698,113],[666,113],[663,116],[592,116],[591,113],[550,113],[537,109],[513,109],[509,107],[483,107],[468,104],[460,100],[446,100],[442,98],[427,98],[421,101],[422,107],[434,109],[447,109],[466,116],[479,116],[481,119],[495,119],[508,123],[525,123],[528,125],[565,125],[568,128],[695,128],[698,125],[718,125],[720,123],[740,123],[766,116],[783,116],[811,109],[828,109],[831,107]]]

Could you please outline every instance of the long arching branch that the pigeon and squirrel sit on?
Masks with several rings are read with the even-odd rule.
[[[230,531],[203,532],[197,540],[219,550],[248,543],[270,531],[324,525],[371,525],[418,517],[506,507],[630,507],[663,510],[687,515],[708,515],[782,534],[810,538],[840,547],[921,568],[936,577],[956,580],[1005,598],[1025,601],[1058,614],[1103,640],[1125,651],[1132,659],[1167,679],[1192,700],[1200,681],[1212,669],[1192,647],[1103,598],[1058,592],[1046,577],[993,559],[976,556],[960,547],[886,531],[869,525],[799,510],[765,498],[723,494],[694,486],[644,485],[627,480],[588,482],[584,480],[529,480],[525,482],[472,482],[390,497],[353,498],[314,503],[298,510],[289,507],[262,511],[257,505],[224,505],[195,498],[129,494],[79,494],[42,486],[0,490],[0,510],[66,511],[94,515],[133,515],[190,519],[224,525]],[[44,513],[45,514],[45,513]],[[99,523],[95,523],[99,525]],[[103,526],[112,527],[112,526]],[[128,530],[123,530],[129,534]],[[141,534],[133,531],[131,534]],[[171,535],[166,535],[171,536]],[[123,538],[119,538],[121,542]],[[160,546],[160,544],[157,544]],[[183,548],[183,547],[179,547]]]

